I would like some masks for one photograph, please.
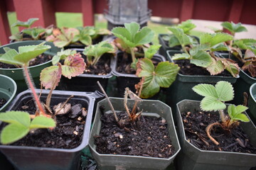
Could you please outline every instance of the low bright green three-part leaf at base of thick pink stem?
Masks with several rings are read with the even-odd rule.
[[[22,111],[8,111],[0,114],[0,120],[9,123],[1,131],[1,143],[10,144],[25,137],[36,128],[54,128],[55,121],[45,116],[36,116],[31,121],[30,115]]]

